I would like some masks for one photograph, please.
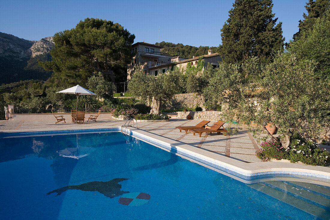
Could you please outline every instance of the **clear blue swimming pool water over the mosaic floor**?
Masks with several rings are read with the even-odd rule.
[[[257,190],[263,184],[252,187],[120,132],[0,141],[1,219],[328,216],[316,217]]]

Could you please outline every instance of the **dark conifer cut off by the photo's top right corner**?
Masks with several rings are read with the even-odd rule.
[[[293,40],[297,40],[302,31],[312,31],[315,18],[325,16],[325,12],[330,8],[329,0],[309,0],[305,6],[308,15],[303,14],[304,20],[299,20],[299,31],[293,35]]]

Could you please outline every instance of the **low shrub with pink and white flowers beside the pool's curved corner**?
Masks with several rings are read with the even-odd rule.
[[[257,157],[266,161],[287,159],[291,163],[300,161],[314,166],[326,166],[330,162],[330,154],[326,149],[299,134],[292,135],[290,146],[286,149],[273,141],[265,141],[260,146],[261,149],[256,151]]]

